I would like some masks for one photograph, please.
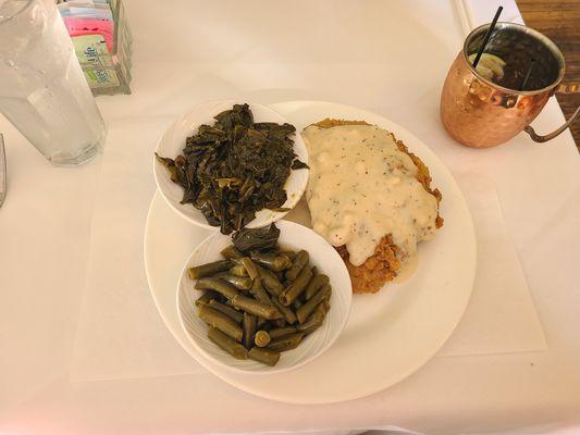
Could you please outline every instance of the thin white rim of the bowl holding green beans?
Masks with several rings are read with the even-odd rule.
[[[319,241],[322,241],[324,245],[326,245],[332,250],[334,250],[334,247],[331,244],[329,244],[322,236],[320,236],[318,233],[316,233],[312,228],[309,228],[308,226],[300,225],[300,224],[298,224],[296,222],[292,222],[292,221],[283,221],[283,225],[299,226],[299,227],[301,227],[300,231],[306,231],[307,233],[310,233],[311,236],[317,236],[320,239]],[[283,229],[281,228],[281,232],[282,231]],[[185,261],[185,263],[184,263],[184,265],[182,268],[182,271],[180,273],[180,277],[177,279],[177,285],[176,285],[176,293],[175,293],[176,294],[176,309],[177,309],[177,318],[180,320],[180,326],[182,327],[182,330],[184,331],[185,335],[187,336],[187,339],[199,351],[199,353],[200,353],[200,356],[202,358],[205,358],[209,363],[215,363],[215,364],[218,364],[218,365],[220,365],[222,368],[225,368],[227,370],[231,370],[233,372],[244,373],[244,374],[249,374],[249,375],[257,375],[257,376],[268,376],[268,375],[271,375],[271,374],[280,374],[280,373],[297,370],[297,369],[299,369],[299,368],[301,368],[301,366],[304,366],[306,364],[309,364],[310,362],[312,362],[317,358],[319,358],[322,353],[324,353],[338,339],[341,334],[344,332],[344,328],[346,327],[346,324],[348,323],[348,318],[350,315],[350,309],[353,307],[353,284],[350,282],[350,275],[348,274],[348,270],[346,268],[346,264],[344,263],[344,261],[341,258],[341,256],[338,254],[338,252],[334,250],[335,253],[336,253],[336,258],[335,259],[337,261],[340,261],[341,269],[343,269],[343,271],[345,272],[346,276],[348,277],[347,283],[345,285],[345,295],[346,295],[346,298],[347,298],[346,308],[345,308],[346,312],[345,312],[344,319],[341,321],[341,324],[338,325],[337,328],[335,328],[335,332],[333,333],[331,339],[328,343],[325,343],[324,346],[322,346],[317,352],[314,352],[313,355],[305,358],[304,361],[300,361],[297,364],[294,364],[294,365],[291,365],[291,366],[286,366],[286,368],[280,368],[280,369],[275,369],[275,366],[274,366],[274,368],[270,368],[269,371],[251,371],[251,370],[244,370],[244,369],[240,369],[240,368],[237,368],[237,366],[232,366],[232,365],[227,364],[226,362],[223,362],[223,361],[221,361],[221,360],[219,360],[217,358],[213,358],[209,353],[207,353],[206,350],[201,346],[199,346],[197,340],[189,334],[189,332],[187,331],[187,327],[184,324],[182,310],[181,310],[181,303],[180,303],[181,284],[182,284],[182,281],[184,279],[184,277],[187,276],[187,273],[186,273],[187,272],[187,268],[188,268],[189,261],[192,260],[194,254],[205,244],[209,243],[213,237],[220,237],[220,236],[227,237],[226,235],[223,235],[221,233],[211,233],[193,249],[192,253],[187,257],[187,260]],[[317,334],[320,331],[317,331],[313,334]]]

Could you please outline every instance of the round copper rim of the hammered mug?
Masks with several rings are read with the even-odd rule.
[[[478,77],[481,82],[485,83],[486,85],[489,85],[489,86],[491,86],[491,87],[493,87],[495,89],[499,89],[499,90],[503,90],[505,92],[517,94],[517,95],[521,95],[521,96],[534,96],[534,95],[543,94],[543,92],[546,92],[546,91],[551,91],[552,89],[555,89],[559,85],[559,83],[564,78],[564,74],[566,72],[566,60],[564,59],[564,54],[562,53],[562,51],[558,48],[558,46],[556,46],[556,44],[552,39],[550,39],[544,34],[538,32],[536,29],[528,27],[528,26],[522,25],[522,24],[510,23],[510,22],[497,22],[494,32],[497,30],[498,28],[514,28],[514,29],[517,29],[519,32],[526,32],[529,35],[531,35],[532,37],[534,37],[535,39],[538,39],[540,42],[543,42],[547,47],[547,49],[557,58],[557,60],[559,62],[562,62],[559,71],[558,71],[558,77],[554,82],[552,82],[550,85],[547,85],[547,86],[545,86],[545,87],[543,87],[541,89],[517,90],[517,89],[509,89],[509,88],[506,88],[504,86],[501,86],[501,85],[498,85],[498,84],[496,84],[496,83],[494,83],[492,80],[489,80],[489,79],[484,78],[482,75],[480,75],[480,73],[473,67],[471,62],[469,62],[469,54],[467,52],[467,49],[468,49],[469,44],[473,39],[473,37],[479,35],[483,30],[488,29],[488,27],[490,27],[490,23],[482,24],[481,26],[476,27],[473,30],[471,30],[469,33],[469,35],[467,35],[467,37],[466,37],[466,39],[464,41],[464,47],[461,49],[461,52],[464,54],[464,61],[467,64],[467,66],[469,67],[469,70],[471,71],[471,73],[476,77]]]

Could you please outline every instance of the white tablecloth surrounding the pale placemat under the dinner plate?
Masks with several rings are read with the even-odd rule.
[[[471,18],[488,9],[491,17],[493,3],[478,2]],[[466,20],[454,2],[127,0],[126,8],[134,94],[99,99],[109,122],[175,116],[217,98],[329,100],[392,119],[452,170],[497,186],[548,350],[436,358],[369,398],[308,408],[255,398],[205,374],[71,384],[101,159],[50,167],[0,120],[9,162],[0,209],[0,432],[397,425],[452,434],[580,423],[580,159],[569,133],[542,147],[520,135],[489,150],[458,147],[445,135],[439,92]],[[534,126],[545,132],[562,121],[551,101]]]

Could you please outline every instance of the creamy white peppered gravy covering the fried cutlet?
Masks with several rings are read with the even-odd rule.
[[[386,235],[403,249],[403,262],[412,259],[417,243],[435,233],[437,201],[415,178],[418,169],[393,135],[371,125],[342,125],[309,126],[303,137],[313,229],[333,246],[346,245],[354,265]]]

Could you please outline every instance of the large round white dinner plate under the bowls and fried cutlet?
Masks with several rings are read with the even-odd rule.
[[[151,202],[145,235],[145,264],[151,294],[177,341],[207,370],[247,393],[294,403],[356,399],[414,373],[442,347],[467,307],[476,273],[476,236],[464,196],[449,171],[399,125],[357,108],[320,101],[272,104],[300,132],[324,117],[365,120],[395,134],[429,166],[443,194],[445,225],[419,245],[419,264],[403,284],[374,295],[355,295],[348,323],[336,343],[316,361],[292,372],[252,375],[206,359],[180,326],[175,289],[192,249],[209,232],[177,215],[159,192]],[[285,219],[308,224],[304,202]]]

